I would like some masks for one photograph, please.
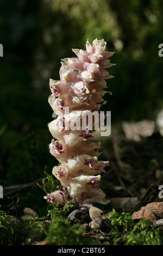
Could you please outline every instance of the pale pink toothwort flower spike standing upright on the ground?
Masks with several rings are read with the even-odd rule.
[[[52,94],[48,102],[57,114],[57,118],[48,124],[53,136],[49,151],[60,163],[52,173],[64,187],[64,190],[47,194],[49,202],[55,200],[55,203],[64,205],[74,199],[89,209],[93,203],[109,203],[98,187],[100,173],[105,172],[109,161],[98,160],[101,143],[91,142],[97,119],[95,122],[95,116],[92,117],[90,124],[88,115],[99,113],[106,103],[102,97],[110,93],[103,89],[106,88],[105,79],[113,77],[105,69],[115,65],[108,59],[114,52],[105,49],[104,39],[96,39],[92,45],[87,40],[86,50],[72,49],[76,58],[62,59],[60,80],[49,81]],[[85,125],[80,122],[82,120],[85,120]]]

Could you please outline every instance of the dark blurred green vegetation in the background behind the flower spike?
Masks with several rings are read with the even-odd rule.
[[[161,0],[12,0],[10,8],[1,1],[0,10],[1,185],[28,184],[57,164],[48,150],[49,78],[59,79],[60,59],[85,48],[87,38],[104,38],[116,52],[115,78],[108,81],[113,95],[103,106],[112,122],[154,119],[163,107]],[[22,192],[25,206],[43,204],[38,187]]]

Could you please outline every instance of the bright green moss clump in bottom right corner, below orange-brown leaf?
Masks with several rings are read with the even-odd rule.
[[[135,223],[130,214],[114,210],[109,215],[111,231],[103,245],[162,245],[163,231],[153,227],[150,220]]]

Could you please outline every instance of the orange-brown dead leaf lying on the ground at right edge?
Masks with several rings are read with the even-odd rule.
[[[154,202],[142,206],[139,211],[135,211],[131,216],[133,220],[159,220],[163,218],[163,202]]]

